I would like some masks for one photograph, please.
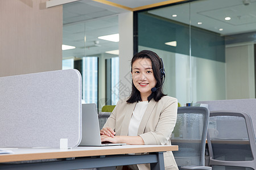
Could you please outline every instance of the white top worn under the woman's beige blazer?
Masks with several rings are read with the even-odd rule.
[[[139,124],[141,124],[142,117],[146,111],[148,105],[148,101],[139,101],[133,111],[133,114],[131,115],[131,121],[129,124],[129,136],[137,136],[138,135],[138,129]]]

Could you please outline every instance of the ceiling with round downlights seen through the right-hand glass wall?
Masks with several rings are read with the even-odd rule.
[[[232,35],[255,31],[256,28],[256,1],[251,0],[250,5],[245,6],[241,0],[214,0],[214,1],[194,1],[190,5],[169,6],[149,11],[150,14],[163,18],[175,20],[177,22],[189,24],[208,31],[220,33],[221,35]],[[177,16],[172,17],[173,14]],[[189,18],[189,14],[190,18]],[[232,19],[226,21],[225,16]],[[201,22],[202,24],[197,24]],[[219,29],[223,30],[220,31]]]

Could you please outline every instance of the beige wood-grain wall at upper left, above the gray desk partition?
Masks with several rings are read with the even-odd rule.
[[[62,10],[46,0],[0,1],[0,76],[61,69]]]

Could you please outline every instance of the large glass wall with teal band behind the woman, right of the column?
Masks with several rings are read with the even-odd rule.
[[[248,18],[254,7],[256,2],[205,0],[139,11],[138,51],[163,58],[164,92],[181,105],[255,98],[256,22]]]

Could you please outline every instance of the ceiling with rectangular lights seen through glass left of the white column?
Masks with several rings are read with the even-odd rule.
[[[63,44],[76,46],[76,49],[63,50],[63,58],[93,56],[118,49],[118,42],[100,40],[97,37],[118,33],[117,14],[121,10],[115,10],[115,7],[110,7],[109,10],[104,7],[106,5],[98,4],[79,1],[64,5]]]

